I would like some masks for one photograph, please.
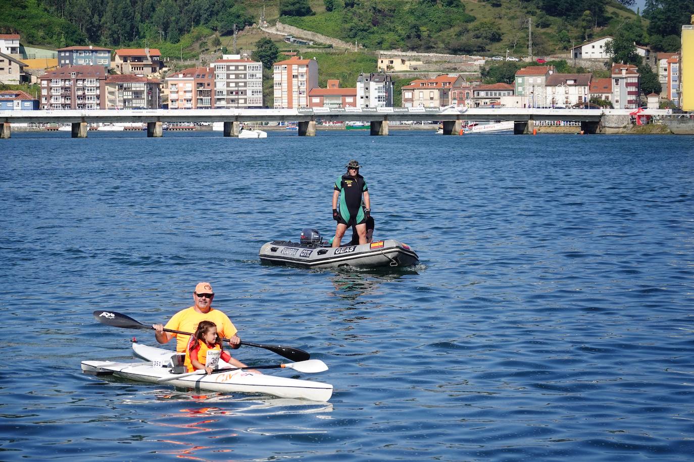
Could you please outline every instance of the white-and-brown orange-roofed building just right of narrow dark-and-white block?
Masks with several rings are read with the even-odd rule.
[[[413,80],[402,88],[403,107],[445,107],[466,105],[470,89],[460,75],[442,74],[432,79]]]

